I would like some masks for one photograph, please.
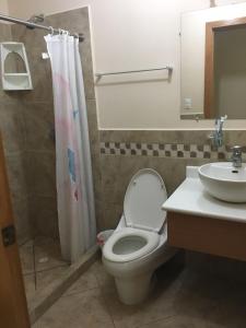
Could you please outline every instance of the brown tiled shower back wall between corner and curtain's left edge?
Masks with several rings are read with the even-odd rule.
[[[12,39],[25,45],[34,86],[32,91],[16,92],[15,96],[24,121],[24,172],[31,235],[58,236],[52,85],[50,65],[48,60],[42,59],[42,51],[45,50],[44,33],[21,25],[12,25],[11,30]],[[17,176],[14,178],[19,179]],[[17,222],[21,219],[15,215]]]

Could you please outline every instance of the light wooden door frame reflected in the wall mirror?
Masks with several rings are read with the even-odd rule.
[[[246,17],[215,21],[206,24],[204,57],[204,118],[214,118],[214,32],[237,28],[246,25]]]

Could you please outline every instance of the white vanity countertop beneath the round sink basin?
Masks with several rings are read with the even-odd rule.
[[[246,203],[231,203],[206,192],[198,176],[198,167],[188,166],[185,181],[164,202],[167,212],[209,216],[246,223]]]

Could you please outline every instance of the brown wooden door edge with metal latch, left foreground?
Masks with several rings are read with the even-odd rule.
[[[16,241],[13,241],[13,229],[10,190],[0,137],[0,327],[28,328],[21,261]]]

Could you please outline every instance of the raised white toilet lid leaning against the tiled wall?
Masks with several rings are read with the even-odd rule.
[[[167,199],[162,177],[152,168],[140,169],[128,185],[124,214],[127,226],[159,232],[166,219],[162,210]]]

